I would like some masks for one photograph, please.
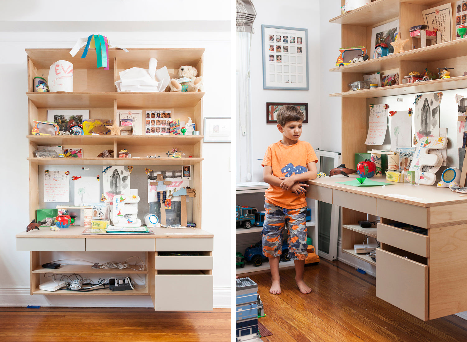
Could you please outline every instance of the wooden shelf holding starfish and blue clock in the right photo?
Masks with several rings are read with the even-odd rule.
[[[381,1],[381,0],[379,0]],[[372,74],[381,70],[399,68],[402,62],[436,62],[447,58],[463,57],[466,55],[467,39],[457,39],[451,42],[444,42],[409,51],[397,53],[395,55],[380,58],[368,59],[364,62],[343,65],[329,69],[335,72],[353,72]],[[405,75],[402,75],[402,77]]]

